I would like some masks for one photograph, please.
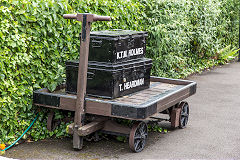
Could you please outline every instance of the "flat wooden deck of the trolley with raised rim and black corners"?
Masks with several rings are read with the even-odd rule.
[[[34,92],[34,105],[75,111],[76,95],[66,94],[64,85],[54,92]],[[94,115],[143,120],[179,103],[196,92],[196,83],[187,80],[151,77],[149,89],[116,99],[86,97],[85,112]]]

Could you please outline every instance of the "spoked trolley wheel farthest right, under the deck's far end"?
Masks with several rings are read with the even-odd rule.
[[[186,128],[188,123],[189,117],[189,105],[187,102],[182,102],[180,104],[181,112],[180,112],[180,119],[179,119],[179,128],[183,129]]]

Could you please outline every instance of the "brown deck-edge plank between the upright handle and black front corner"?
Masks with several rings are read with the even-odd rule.
[[[109,103],[100,103],[97,101],[86,101],[86,113],[111,116],[112,105]]]

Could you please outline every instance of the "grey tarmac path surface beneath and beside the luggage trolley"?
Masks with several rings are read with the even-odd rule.
[[[128,143],[114,139],[84,142],[72,149],[72,139],[24,143],[6,151],[16,159],[240,159],[240,63],[231,63],[188,78],[198,84],[188,98],[187,128],[166,134],[150,132],[147,145],[132,153]],[[169,123],[160,123],[169,128]],[[1,157],[0,157],[1,158]]]

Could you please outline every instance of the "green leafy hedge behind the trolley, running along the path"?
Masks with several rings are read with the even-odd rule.
[[[53,90],[65,79],[64,62],[78,58],[81,24],[63,14],[112,17],[92,30],[147,30],[152,74],[180,78],[224,62],[223,51],[237,48],[237,6],[237,0],[0,0],[0,143],[15,140],[33,120],[33,90]],[[46,112],[28,136],[65,136],[65,125],[47,131]]]

